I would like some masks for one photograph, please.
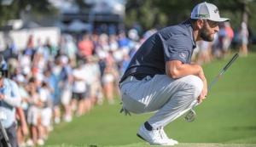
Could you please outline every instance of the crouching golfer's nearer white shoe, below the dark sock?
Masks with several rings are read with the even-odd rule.
[[[162,138],[160,127],[148,131],[143,124],[137,132],[137,136],[153,145],[174,145],[172,140]]]

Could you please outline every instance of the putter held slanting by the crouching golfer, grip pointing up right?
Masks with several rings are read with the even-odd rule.
[[[230,60],[230,62],[224,67],[224,69],[218,74],[218,76],[213,80],[213,82],[210,84],[210,86],[208,86],[208,90],[210,88],[212,88],[212,85],[217,82],[217,80],[220,78],[220,76],[224,73],[224,71],[227,71],[228,68],[230,67],[230,65],[236,60],[236,58],[238,57],[238,54],[235,54],[234,57]],[[195,120],[195,110],[193,110],[193,108],[196,106],[196,105],[199,105],[198,102],[196,101],[195,102],[195,105],[193,105],[191,107],[191,109],[189,110],[189,113],[184,117],[184,120],[187,121],[187,122],[193,122]]]

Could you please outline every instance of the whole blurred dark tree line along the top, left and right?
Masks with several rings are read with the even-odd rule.
[[[45,14],[58,14],[48,0],[12,0],[9,5],[3,5],[0,0],[0,24],[6,20],[20,19],[21,15],[30,11],[35,17],[40,18]],[[11,0],[9,0],[11,1]],[[168,25],[181,23],[189,18],[192,9],[202,0],[126,0],[125,26],[131,28],[139,23],[144,31],[152,27],[162,28]],[[74,0],[80,9],[90,8],[84,0]],[[241,22],[256,33],[256,0],[208,0],[218,6],[222,17],[230,18],[230,24],[235,30],[241,28]],[[86,12],[86,11],[85,11]],[[80,13],[83,13],[81,11]]]

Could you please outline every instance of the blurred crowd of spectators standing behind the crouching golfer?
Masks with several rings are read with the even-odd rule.
[[[53,124],[72,122],[74,116],[90,113],[95,105],[119,103],[119,78],[133,54],[156,31],[151,29],[143,35],[137,29],[119,30],[118,34],[63,33],[56,47],[50,37],[34,43],[31,36],[26,48],[12,46],[17,58],[7,59],[9,75],[19,85],[25,113],[25,122],[18,114],[16,118],[22,122],[17,129],[20,146],[44,145]],[[245,43],[246,34],[241,31]],[[230,24],[220,24],[214,42],[198,42],[193,62],[207,64],[228,57],[233,37]],[[244,56],[246,47],[241,45]]]

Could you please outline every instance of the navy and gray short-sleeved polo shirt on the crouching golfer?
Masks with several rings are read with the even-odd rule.
[[[149,37],[131,59],[124,76],[146,76],[166,74],[166,61],[180,60],[189,64],[196,47],[193,28],[189,20],[179,25],[166,27]]]

